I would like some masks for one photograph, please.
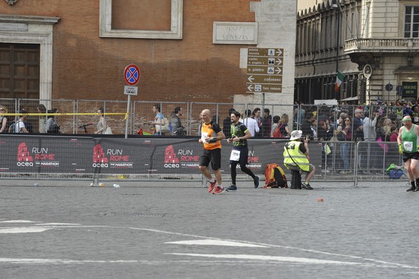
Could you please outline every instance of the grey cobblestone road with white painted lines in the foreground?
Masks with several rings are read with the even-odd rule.
[[[0,180],[0,278],[419,278],[406,181],[88,184]]]

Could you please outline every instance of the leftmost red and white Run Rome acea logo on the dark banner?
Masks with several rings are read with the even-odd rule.
[[[55,154],[48,148],[28,148],[25,142],[17,146],[17,166],[59,166],[59,161],[55,160]]]

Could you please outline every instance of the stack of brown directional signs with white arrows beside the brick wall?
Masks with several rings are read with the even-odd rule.
[[[247,93],[282,93],[284,49],[247,49]]]

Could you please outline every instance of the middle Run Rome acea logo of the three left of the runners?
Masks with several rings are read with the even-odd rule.
[[[124,155],[122,149],[108,148],[105,151],[100,143],[93,148],[93,166],[95,168],[132,168],[133,162],[130,162],[130,157],[130,155]]]

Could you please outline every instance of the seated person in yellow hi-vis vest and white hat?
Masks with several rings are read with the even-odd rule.
[[[284,165],[291,171],[302,171],[307,173],[302,187],[312,190],[310,179],[314,176],[316,168],[309,162],[309,139],[301,138],[302,131],[297,130],[291,133],[291,138],[284,146]]]

